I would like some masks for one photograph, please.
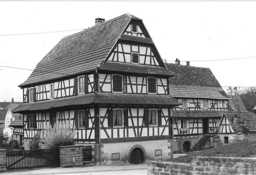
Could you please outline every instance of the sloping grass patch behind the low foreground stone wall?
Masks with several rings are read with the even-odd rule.
[[[256,141],[237,142],[218,148],[189,152],[185,156],[172,159],[173,162],[189,162],[191,157],[256,157]]]

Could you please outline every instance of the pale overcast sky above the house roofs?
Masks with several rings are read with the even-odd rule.
[[[143,19],[168,63],[208,67],[221,86],[255,86],[255,8],[256,1],[0,1],[0,102],[22,102],[18,85],[32,72],[3,66],[34,69],[63,37],[125,13]],[[64,30],[75,31],[54,32]],[[51,33],[15,35],[40,32]],[[216,59],[230,60],[201,61]]]

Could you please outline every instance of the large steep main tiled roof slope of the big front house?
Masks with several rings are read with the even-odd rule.
[[[124,14],[64,37],[37,64],[29,78],[19,86],[95,70],[106,58],[132,18],[139,19]]]

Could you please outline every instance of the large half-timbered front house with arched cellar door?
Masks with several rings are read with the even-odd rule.
[[[95,162],[172,156],[169,77],[142,19],[124,14],[64,37],[19,85],[25,145],[46,124],[69,120]],[[101,158],[101,159],[100,159]]]

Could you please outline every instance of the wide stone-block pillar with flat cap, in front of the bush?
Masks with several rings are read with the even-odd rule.
[[[60,166],[82,166],[83,165],[83,146],[59,146]]]

